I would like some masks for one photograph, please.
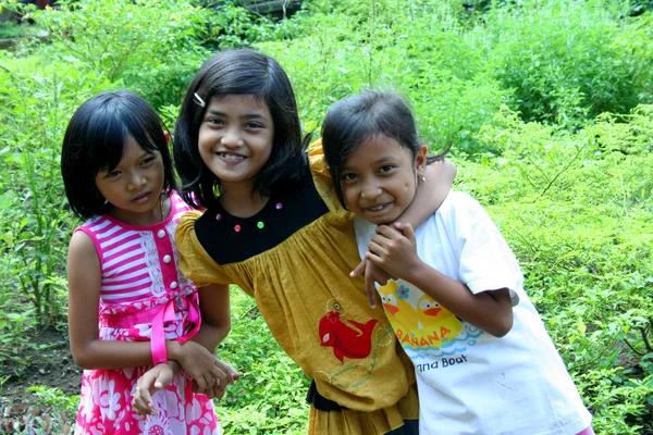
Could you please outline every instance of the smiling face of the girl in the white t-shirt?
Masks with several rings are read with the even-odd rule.
[[[370,137],[344,162],[341,187],[347,208],[373,224],[389,224],[412,202],[427,148],[416,158],[386,136]]]

